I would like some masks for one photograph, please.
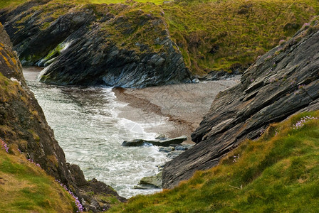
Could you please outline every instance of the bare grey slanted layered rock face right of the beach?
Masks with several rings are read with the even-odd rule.
[[[319,109],[318,29],[315,18],[291,40],[256,60],[240,84],[217,95],[192,134],[197,144],[164,165],[164,188],[217,165],[246,138],[258,138],[269,124]]]

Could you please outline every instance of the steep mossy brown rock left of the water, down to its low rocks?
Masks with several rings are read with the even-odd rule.
[[[98,195],[110,195],[118,200],[111,187],[103,182],[88,182],[77,165],[69,165],[62,148],[54,138],[41,107],[28,89],[22,75],[22,66],[9,36],[0,23],[0,139],[12,153],[22,152],[26,158],[41,165],[49,175],[73,190],[93,212],[109,207]],[[95,188],[100,190],[95,190]],[[88,196],[87,192],[95,196]],[[92,205],[95,203],[95,205]],[[98,203],[98,205],[97,205]],[[100,204],[99,204],[100,203]]]

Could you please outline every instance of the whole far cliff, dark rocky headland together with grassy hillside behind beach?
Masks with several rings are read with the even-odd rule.
[[[243,72],[319,11],[316,0],[150,1],[31,0],[0,21],[23,65],[51,65],[44,82],[147,87]]]

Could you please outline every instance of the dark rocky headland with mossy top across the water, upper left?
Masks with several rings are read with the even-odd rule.
[[[113,87],[190,82],[162,11],[152,7],[30,1],[1,11],[0,21],[23,65],[48,65],[43,82]]]

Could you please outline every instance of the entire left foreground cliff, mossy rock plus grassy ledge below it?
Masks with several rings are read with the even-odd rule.
[[[88,182],[78,165],[66,162],[63,150],[58,146],[41,107],[26,85],[21,62],[12,50],[10,38],[1,23],[0,65],[0,146],[13,154],[0,153],[0,196],[3,200],[8,198],[8,202],[1,202],[1,210],[10,212],[6,209],[9,209],[11,204],[16,204],[16,207],[12,207],[14,212],[72,211],[73,207],[68,200],[61,202],[66,199],[63,194],[58,197],[51,193],[53,190],[60,194],[55,187],[47,190],[53,178],[66,185],[72,191],[69,191],[70,195],[79,197],[85,210],[102,211],[116,202],[125,201],[125,198],[117,195],[117,192],[105,183],[95,179]],[[14,155],[18,155],[19,159]],[[41,166],[46,174],[53,178],[48,180],[48,176],[45,176],[41,179],[40,176],[45,174],[43,171],[40,173],[35,170],[36,172],[31,173],[26,159]],[[4,182],[1,182],[2,180]],[[19,187],[18,182],[22,187]],[[14,184],[16,188],[11,189]],[[44,196],[44,193],[48,194]],[[52,199],[47,199],[51,194]],[[23,202],[23,196],[29,196],[29,199]],[[11,200],[12,197],[15,198]],[[76,204],[82,207],[78,200]],[[42,209],[39,208],[41,205]]]

